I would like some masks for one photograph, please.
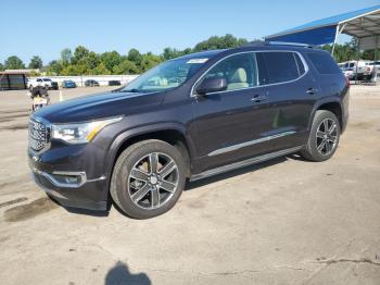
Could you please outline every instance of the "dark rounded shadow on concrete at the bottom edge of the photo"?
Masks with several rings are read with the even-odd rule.
[[[128,284],[128,285],[151,285],[152,282],[145,273],[130,273],[126,263],[118,261],[107,273],[104,280],[105,285]]]

